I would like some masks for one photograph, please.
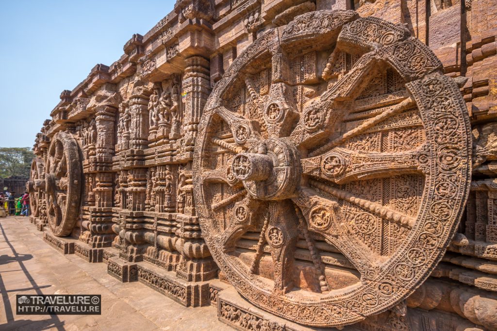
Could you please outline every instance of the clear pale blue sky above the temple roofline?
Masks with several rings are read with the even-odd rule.
[[[0,147],[32,147],[60,93],[119,59],[174,2],[0,0]]]

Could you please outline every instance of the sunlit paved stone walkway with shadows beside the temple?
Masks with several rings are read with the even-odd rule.
[[[214,307],[185,308],[107,265],[62,255],[27,217],[0,218],[0,330],[233,330]],[[16,315],[16,294],[101,294],[102,315]]]

